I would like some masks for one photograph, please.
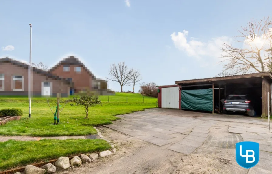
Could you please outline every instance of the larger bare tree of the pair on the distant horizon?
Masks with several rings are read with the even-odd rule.
[[[121,86],[121,92],[123,92],[123,86],[129,85],[131,79],[131,69],[127,68],[125,62],[119,62],[118,65],[113,63],[110,65],[109,75],[111,78],[107,78],[110,81],[118,82]]]

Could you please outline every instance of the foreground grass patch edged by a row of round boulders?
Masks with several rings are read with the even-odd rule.
[[[35,162],[110,149],[102,139],[43,139],[0,142],[0,171]]]

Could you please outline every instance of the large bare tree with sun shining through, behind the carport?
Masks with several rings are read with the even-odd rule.
[[[226,63],[223,74],[239,75],[252,72],[271,71],[271,59],[269,53],[272,49],[272,22],[263,18],[258,22],[251,20],[246,27],[241,27],[237,42],[243,44],[241,48],[224,43],[221,48],[223,53],[221,62]]]

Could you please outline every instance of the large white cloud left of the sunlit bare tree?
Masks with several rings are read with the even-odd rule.
[[[191,37],[191,40],[188,41],[188,33],[189,31],[183,30],[183,32],[178,32],[178,34],[173,32],[170,36],[177,49],[198,60],[205,56],[218,58],[222,53],[220,50],[222,44],[230,41],[230,38],[227,36],[211,38],[207,42],[197,41]]]

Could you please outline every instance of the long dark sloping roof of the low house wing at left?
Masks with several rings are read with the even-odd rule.
[[[23,69],[29,69],[29,65],[27,65],[27,64],[25,64],[23,62],[14,60],[14,59],[10,59],[8,57],[0,59],[0,64],[1,63],[11,63],[12,65],[16,65],[18,67],[22,67]],[[73,86],[73,82],[71,82],[70,80],[68,80],[66,78],[60,78],[57,75],[53,75],[50,72],[43,71],[41,69],[37,69],[36,67],[32,67],[32,72],[34,72],[36,74],[40,74],[40,75],[46,76],[47,78],[50,78],[50,79],[53,79],[53,80],[63,81],[65,84],[67,84],[69,86]]]

